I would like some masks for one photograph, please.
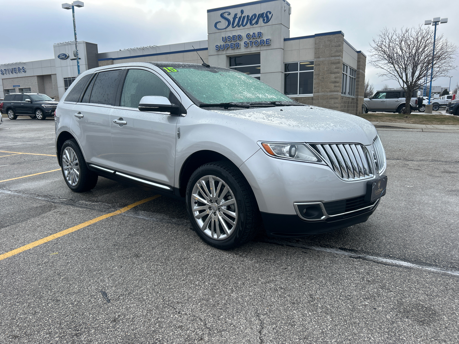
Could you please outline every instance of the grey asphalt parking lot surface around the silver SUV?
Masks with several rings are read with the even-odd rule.
[[[221,251],[179,201],[134,206],[155,194],[101,177],[73,193],[54,121],[4,119],[0,343],[458,343],[459,133],[379,133],[388,191],[367,222]]]

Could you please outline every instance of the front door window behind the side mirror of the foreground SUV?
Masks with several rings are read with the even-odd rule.
[[[120,106],[138,108],[146,95],[161,95],[169,98],[170,89],[155,74],[142,69],[130,69],[124,81]]]

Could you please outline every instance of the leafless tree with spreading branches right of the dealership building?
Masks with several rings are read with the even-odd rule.
[[[434,31],[431,28],[402,28],[389,30],[384,28],[373,39],[370,50],[370,64],[382,69],[378,76],[395,80],[405,90],[405,104],[411,101],[411,94],[416,90],[427,72],[431,72]],[[457,47],[440,35],[435,40],[433,59],[433,79],[448,76],[453,66]],[[405,106],[405,114],[411,112]]]

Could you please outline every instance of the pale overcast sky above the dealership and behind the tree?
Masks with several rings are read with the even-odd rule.
[[[56,0],[0,0],[2,34],[0,63],[53,57],[52,44],[73,40],[72,11]],[[70,1],[69,1],[70,2]],[[207,9],[235,5],[237,0],[88,0],[76,8],[78,40],[98,44],[99,52],[146,45],[207,39]],[[385,83],[371,67],[369,43],[385,26],[412,27],[432,17],[448,17],[437,33],[459,46],[459,10],[451,3],[426,0],[289,0],[292,6],[290,37],[339,31],[367,56],[366,79],[380,89]],[[438,4],[438,5],[436,5]],[[429,27],[433,30],[433,27]],[[459,59],[456,59],[456,65]],[[451,72],[451,87],[459,82]],[[448,87],[449,78],[434,85]]]

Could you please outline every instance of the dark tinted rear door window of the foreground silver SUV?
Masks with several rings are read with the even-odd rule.
[[[93,104],[115,105],[116,91],[121,72],[121,70],[118,70],[97,74],[89,102]]]

